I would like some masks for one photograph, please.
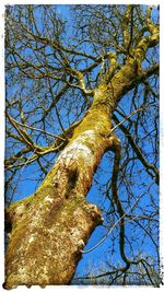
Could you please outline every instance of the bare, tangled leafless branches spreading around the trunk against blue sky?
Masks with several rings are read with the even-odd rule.
[[[109,133],[120,148],[94,175],[87,200],[104,221],[71,283],[159,287],[159,7],[7,7],[7,206],[37,189],[96,92],[107,98],[114,85]]]

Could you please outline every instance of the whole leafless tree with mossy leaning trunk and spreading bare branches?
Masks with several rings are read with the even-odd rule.
[[[159,8],[7,7],[5,80],[4,287],[70,283],[99,224],[92,278],[159,285]]]

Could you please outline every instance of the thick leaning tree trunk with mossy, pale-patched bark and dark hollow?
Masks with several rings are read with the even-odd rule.
[[[130,58],[109,83],[95,90],[94,102],[40,187],[12,203],[12,232],[5,256],[5,288],[68,284],[96,225],[97,207],[85,196],[105,151],[114,144],[110,117],[117,100],[130,89],[137,62]]]

